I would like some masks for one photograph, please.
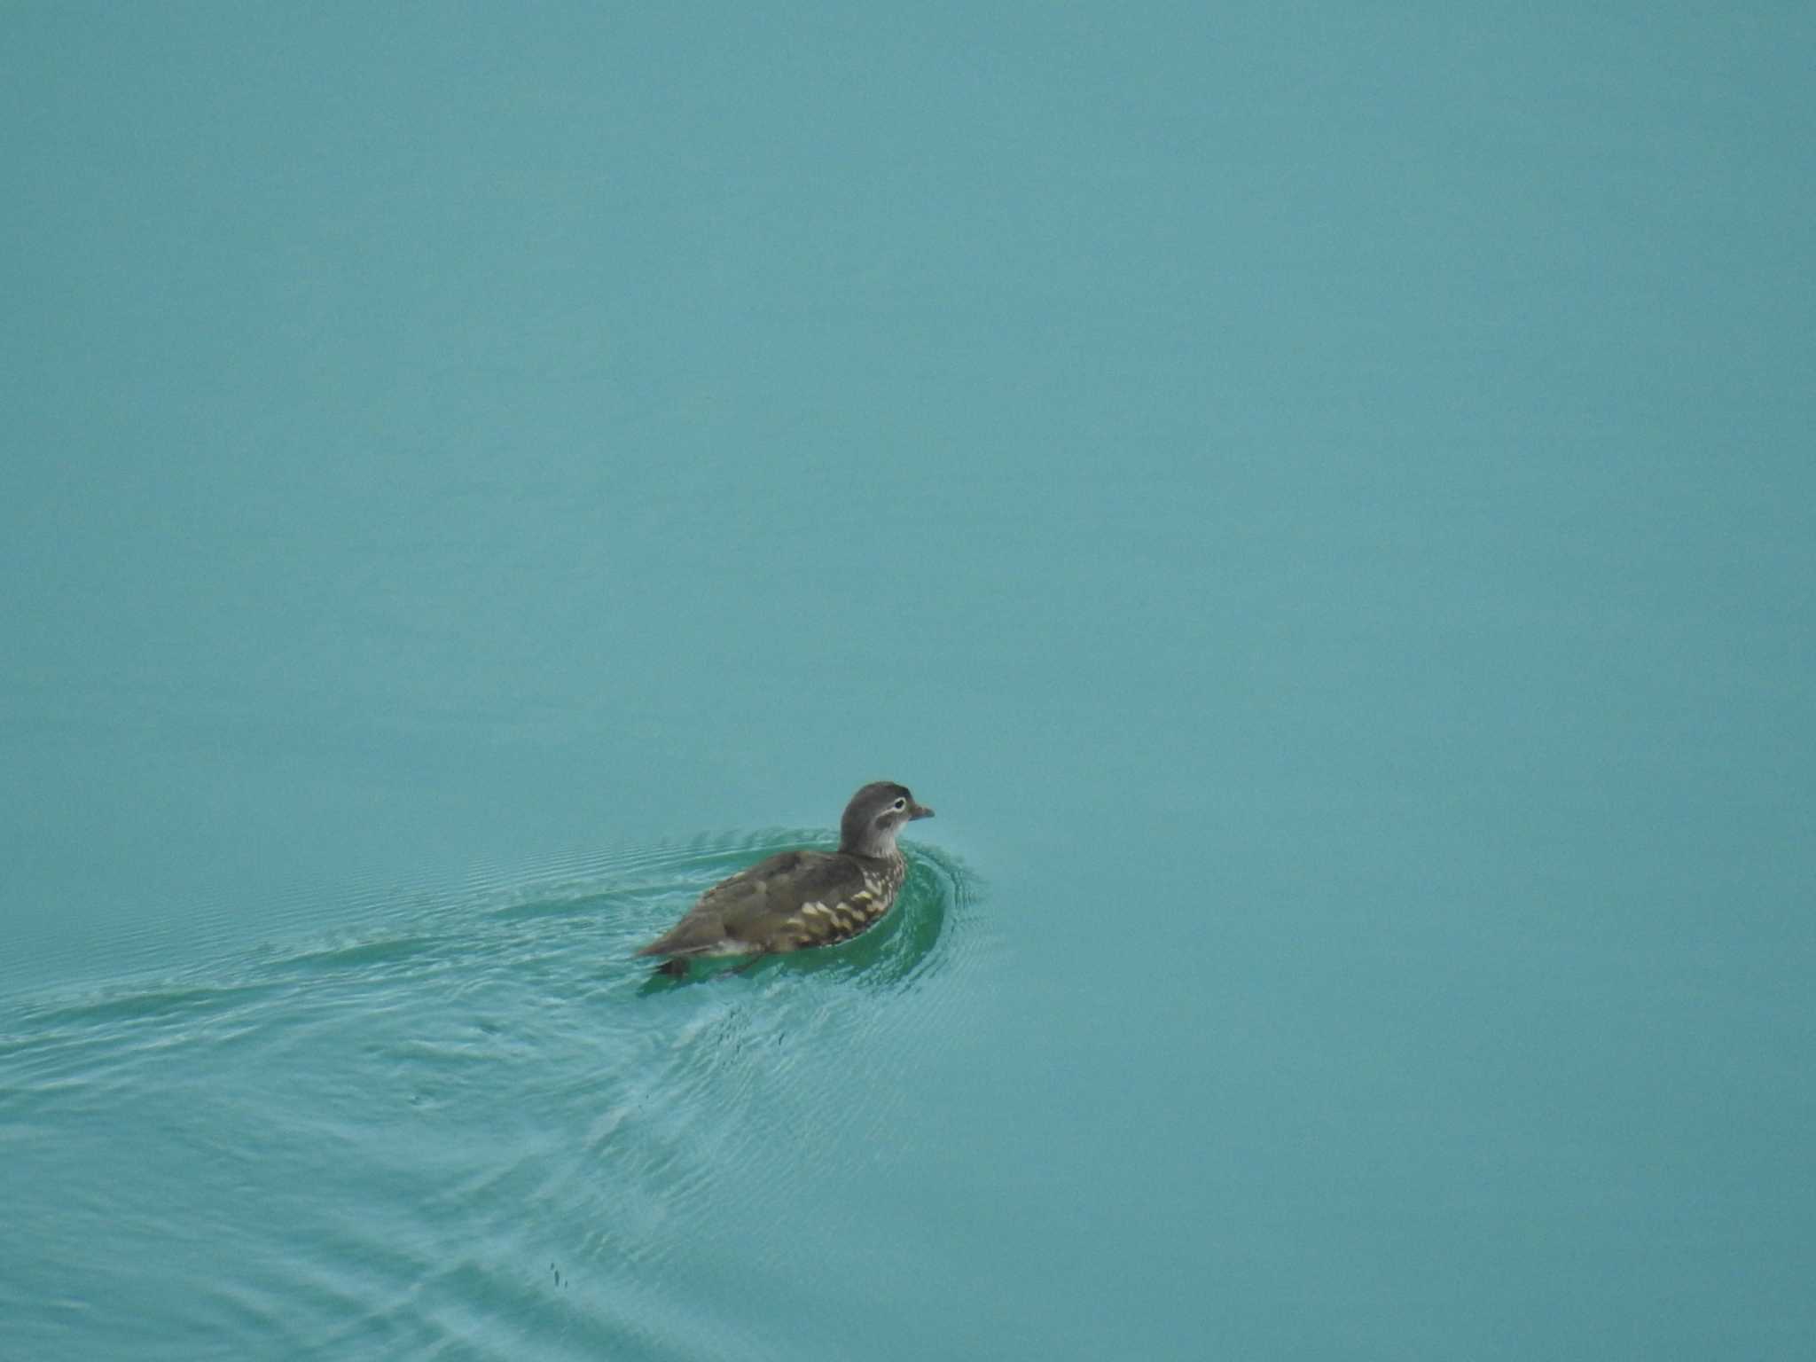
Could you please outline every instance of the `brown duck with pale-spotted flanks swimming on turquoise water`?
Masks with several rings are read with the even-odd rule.
[[[895,903],[908,863],[895,835],[933,810],[908,786],[873,781],[852,795],[839,819],[837,852],[783,852],[739,870],[637,955],[666,955],[661,973],[686,973],[699,955],[743,955],[754,964],[808,946],[850,941]],[[743,968],[743,966],[739,966]]]

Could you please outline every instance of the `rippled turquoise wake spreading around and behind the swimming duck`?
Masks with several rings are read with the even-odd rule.
[[[750,1320],[801,1291],[792,1208],[866,1175],[890,1064],[950,1033],[981,935],[973,877],[915,846],[852,943],[690,982],[632,955],[810,841],[489,868],[374,901],[356,932],[9,1004],[0,1191],[44,1249],[0,1311],[38,1357],[78,1335],[87,1355],[786,1357]]]

